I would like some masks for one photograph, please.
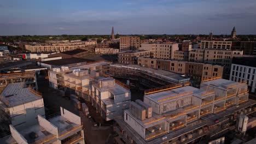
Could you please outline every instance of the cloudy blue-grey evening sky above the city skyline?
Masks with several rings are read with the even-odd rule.
[[[1,0],[0,35],[256,34],[255,0]]]

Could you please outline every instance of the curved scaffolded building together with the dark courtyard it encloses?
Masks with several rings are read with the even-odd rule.
[[[189,77],[166,70],[156,70],[135,64],[109,64],[103,73],[130,86],[131,100],[141,99],[145,93],[189,85]]]

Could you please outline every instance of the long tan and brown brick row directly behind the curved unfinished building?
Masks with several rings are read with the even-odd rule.
[[[202,80],[222,77],[223,67],[220,65],[194,63],[184,61],[172,61],[167,59],[157,59],[139,57],[138,64],[154,69],[163,69],[174,73],[188,75],[193,82],[200,83]]]

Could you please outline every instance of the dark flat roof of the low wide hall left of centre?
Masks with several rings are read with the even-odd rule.
[[[92,60],[83,59],[83,58],[64,58],[64,59],[56,59],[53,61],[44,61],[41,63],[50,64],[50,65],[67,65],[67,64],[74,64],[74,63],[82,63],[82,62],[94,62]]]

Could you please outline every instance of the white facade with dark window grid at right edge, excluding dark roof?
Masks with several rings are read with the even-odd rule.
[[[256,88],[256,68],[246,65],[232,64],[229,80],[235,82],[247,82],[251,87],[250,91],[255,93]]]

